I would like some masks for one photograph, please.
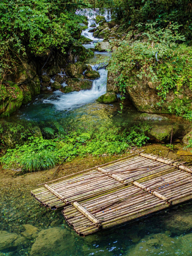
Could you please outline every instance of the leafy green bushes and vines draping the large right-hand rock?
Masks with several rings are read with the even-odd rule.
[[[178,23],[169,24],[165,29],[155,28],[156,26],[157,23],[138,24],[137,27],[145,32],[139,34],[137,41],[124,40],[119,43],[118,50],[113,53],[109,70],[115,74],[116,84],[122,94],[129,86],[137,83],[146,86],[148,82],[152,82],[159,90],[159,106],[164,103],[172,89],[176,97],[169,110],[192,120],[189,99],[177,98],[184,87],[192,89],[191,47],[178,44],[185,40],[179,32]]]

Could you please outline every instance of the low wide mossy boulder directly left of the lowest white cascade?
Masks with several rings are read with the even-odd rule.
[[[60,89],[61,92],[79,92],[80,90],[90,90],[93,83],[88,79],[78,79],[78,78],[67,78],[65,83],[67,86]]]

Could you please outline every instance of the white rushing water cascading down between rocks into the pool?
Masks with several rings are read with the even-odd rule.
[[[83,11],[79,11],[79,15],[85,15],[88,17],[88,29],[82,32],[82,35],[88,37],[94,41],[102,41],[103,39],[94,38],[93,33],[88,32],[91,24],[95,24],[95,17],[96,15],[101,15],[99,11],[93,11],[91,9],[85,9]],[[110,10],[104,10],[102,13],[106,20],[111,19]],[[95,24],[96,26],[96,24]],[[85,44],[83,45],[85,48],[94,48],[94,44]],[[107,52],[95,52],[96,55],[110,55]],[[94,57],[92,58],[94,59]],[[97,70],[99,64],[91,64],[90,62],[87,63],[92,66],[93,70]],[[79,92],[70,92],[70,93],[62,93],[59,90],[55,91],[50,95],[48,98],[43,100],[43,103],[53,104],[57,110],[73,110],[74,108],[80,107],[82,105],[88,104],[90,102],[95,101],[98,97],[106,93],[106,86],[107,86],[107,70],[104,68],[100,68],[98,70],[100,74],[100,78],[93,80],[93,86],[91,90],[81,90]],[[62,86],[66,86],[64,82]]]

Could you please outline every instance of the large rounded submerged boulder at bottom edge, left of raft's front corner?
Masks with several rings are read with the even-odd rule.
[[[74,241],[70,232],[62,227],[45,229],[38,233],[38,237],[32,245],[29,255],[71,255],[72,248],[75,250]],[[55,248],[57,251],[55,251]],[[75,251],[73,255],[75,255]]]

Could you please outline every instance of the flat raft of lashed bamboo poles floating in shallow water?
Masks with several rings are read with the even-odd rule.
[[[138,152],[39,184],[31,194],[61,208],[75,232],[87,236],[192,199],[192,169],[179,160]]]

